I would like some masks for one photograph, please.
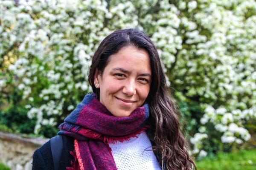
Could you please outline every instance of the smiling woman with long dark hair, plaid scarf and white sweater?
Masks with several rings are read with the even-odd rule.
[[[60,125],[60,169],[192,169],[157,49],[145,33],[124,29],[106,37],[88,76],[93,94]],[[47,142],[35,151],[33,169],[54,169],[51,155]]]

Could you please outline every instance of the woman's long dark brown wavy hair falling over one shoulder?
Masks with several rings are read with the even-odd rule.
[[[166,86],[165,74],[157,48],[150,38],[138,29],[122,29],[108,35],[99,45],[88,71],[89,83],[99,98],[99,89],[94,85],[94,74],[102,74],[111,55],[121,48],[133,46],[148,52],[151,65],[151,87],[146,98],[150,108],[148,137],[156,155],[162,154],[168,170],[191,170],[194,161],[189,157],[185,139],[180,131],[178,109]]]

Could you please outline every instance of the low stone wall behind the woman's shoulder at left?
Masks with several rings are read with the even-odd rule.
[[[48,140],[0,132],[0,163],[11,170],[31,170],[34,151]]]

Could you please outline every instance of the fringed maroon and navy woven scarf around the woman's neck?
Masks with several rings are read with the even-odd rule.
[[[115,117],[96,99],[96,94],[87,94],[59,126],[58,134],[75,139],[75,149],[70,152],[74,160],[67,170],[116,170],[108,144],[137,137],[146,129],[148,116],[145,103],[128,117]]]

